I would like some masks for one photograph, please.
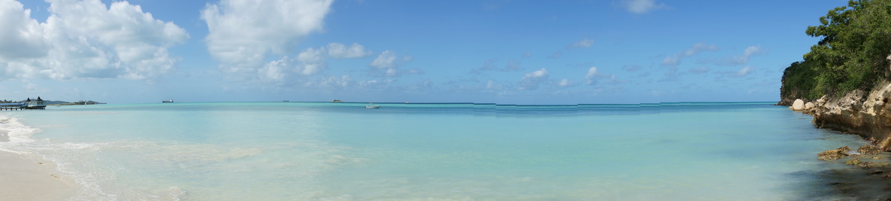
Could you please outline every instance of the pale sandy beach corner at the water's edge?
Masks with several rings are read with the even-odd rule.
[[[8,141],[0,131],[0,142]],[[66,200],[77,193],[76,186],[51,163],[0,151],[0,200]]]

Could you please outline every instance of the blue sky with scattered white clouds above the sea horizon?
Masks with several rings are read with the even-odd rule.
[[[0,99],[779,101],[843,0],[0,0]]]

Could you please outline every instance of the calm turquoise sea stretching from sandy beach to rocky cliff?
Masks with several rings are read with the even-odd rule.
[[[769,103],[364,105],[0,112],[0,149],[72,200],[797,200],[841,166],[815,153],[867,143]]]

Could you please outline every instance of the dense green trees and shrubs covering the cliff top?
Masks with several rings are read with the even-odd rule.
[[[807,27],[807,35],[822,39],[783,73],[781,97],[842,96],[891,77],[891,0],[852,0],[820,23]]]

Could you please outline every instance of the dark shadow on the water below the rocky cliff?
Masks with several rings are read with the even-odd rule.
[[[891,199],[891,166],[864,168],[861,166],[838,166],[850,157],[827,161],[827,165],[837,165],[822,171],[798,171],[787,174],[796,182],[790,189],[793,195],[789,200],[887,200]],[[887,162],[883,159],[863,161]]]

